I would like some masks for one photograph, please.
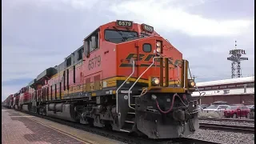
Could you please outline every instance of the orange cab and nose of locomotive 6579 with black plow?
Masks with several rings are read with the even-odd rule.
[[[102,80],[101,90],[116,87],[111,91],[116,95],[114,130],[149,138],[178,138],[198,130],[189,63],[154,27],[110,22],[85,38],[84,49],[88,70],[112,78]]]

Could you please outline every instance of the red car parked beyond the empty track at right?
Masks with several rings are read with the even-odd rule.
[[[229,106],[224,110],[226,118],[249,117],[250,109],[247,106]]]

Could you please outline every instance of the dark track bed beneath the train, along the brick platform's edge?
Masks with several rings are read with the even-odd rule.
[[[149,139],[149,138],[138,138],[138,137],[130,136],[126,133],[119,133],[116,131],[110,131],[110,130],[101,129],[101,128],[97,128],[97,127],[91,127],[91,126],[82,125],[82,124],[75,123],[75,122],[65,121],[65,120],[58,119],[58,118],[51,118],[51,117],[42,116],[39,114],[32,114],[32,113],[29,113],[26,111],[21,111],[21,110],[16,110],[16,111],[19,111],[19,112],[22,112],[25,114],[30,114],[30,115],[36,116],[38,118],[45,118],[45,119],[53,121],[53,122],[58,122],[60,124],[66,125],[66,126],[76,128],[78,130],[85,130],[85,131],[93,133],[93,134],[98,134],[103,137],[115,139],[117,141],[125,142],[128,144],[165,144],[165,143],[168,143],[168,144],[171,144],[171,143],[173,143],[173,144],[221,144],[218,142],[208,142],[208,141],[204,141],[204,140],[200,140],[200,139],[193,139],[193,138],[173,138],[173,139],[160,139],[160,140],[154,140],[154,139]]]

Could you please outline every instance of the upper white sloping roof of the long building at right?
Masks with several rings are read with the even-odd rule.
[[[242,83],[242,82],[254,82],[254,76],[245,77],[245,78],[230,78],[230,79],[223,79],[223,80],[210,81],[210,82],[197,82],[196,86],[216,86],[216,85],[225,85],[225,84]]]

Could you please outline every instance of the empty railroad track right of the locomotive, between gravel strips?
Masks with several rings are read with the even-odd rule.
[[[250,127],[250,126],[230,126],[230,125],[218,125],[218,124],[211,124],[211,123],[200,123],[199,128],[254,134],[254,127]]]

